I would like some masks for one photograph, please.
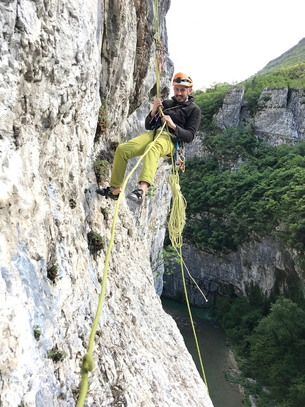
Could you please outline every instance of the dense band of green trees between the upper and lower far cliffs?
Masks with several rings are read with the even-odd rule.
[[[184,237],[201,250],[220,253],[277,235],[305,266],[305,143],[267,146],[249,131],[216,137],[209,156],[188,161],[180,177],[188,202]],[[230,165],[223,165],[228,156]]]

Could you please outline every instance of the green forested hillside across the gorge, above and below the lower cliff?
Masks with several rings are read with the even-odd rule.
[[[236,85],[235,85],[236,86]],[[266,87],[305,87],[305,40],[237,86],[250,117]],[[187,204],[184,240],[222,256],[245,242],[274,237],[294,253],[305,276],[305,141],[271,146],[253,125],[218,129],[213,116],[231,87],[195,92],[201,108],[203,158],[181,176]],[[241,374],[229,378],[257,407],[305,406],[305,301],[302,279],[287,279],[266,296],[250,285],[245,298],[228,292],[214,313],[236,351]],[[250,406],[248,398],[245,405]]]

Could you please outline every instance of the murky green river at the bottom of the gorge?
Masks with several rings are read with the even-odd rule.
[[[170,314],[176,321],[187,349],[192,354],[196,367],[201,374],[187,305],[169,298],[162,297],[161,300],[165,312]],[[215,322],[209,320],[206,308],[191,307],[191,311],[209,394],[214,407],[243,407],[243,396],[238,391],[238,386],[229,384],[223,375],[224,371],[235,368],[230,348],[226,345],[225,333]]]

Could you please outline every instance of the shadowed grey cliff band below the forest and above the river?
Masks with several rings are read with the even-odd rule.
[[[263,293],[269,295],[275,287],[284,288],[287,280],[301,278],[301,271],[282,244],[273,239],[261,243],[243,244],[238,251],[226,256],[213,256],[183,246],[183,258],[189,272],[209,300],[233,290],[236,295],[246,295],[246,287],[257,284]],[[185,273],[189,300],[194,305],[206,303],[192,278]],[[183,292],[180,271],[165,275],[163,295],[174,297]]]

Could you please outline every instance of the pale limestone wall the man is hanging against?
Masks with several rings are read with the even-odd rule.
[[[153,1],[7,0],[0,13],[1,404],[72,407],[115,210],[96,195],[94,161],[111,163],[113,143],[143,123],[135,109],[148,112]],[[171,70],[167,61],[162,92]],[[101,99],[106,127],[96,131]],[[160,190],[143,212],[122,199],[86,406],[212,406],[153,285]]]

